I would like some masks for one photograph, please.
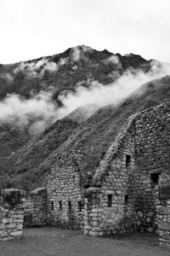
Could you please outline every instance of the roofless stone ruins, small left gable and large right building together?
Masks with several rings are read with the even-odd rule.
[[[170,173],[169,149],[167,102],[127,119],[90,180],[81,152],[58,155],[44,178],[46,223],[82,227],[90,236],[156,231],[159,180]]]

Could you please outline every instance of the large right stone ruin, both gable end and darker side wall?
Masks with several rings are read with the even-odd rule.
[[[85,234],[156,230],[156,186],[160,174],[170,172],[169,142],[169,103],[127,120],[88,189]]]

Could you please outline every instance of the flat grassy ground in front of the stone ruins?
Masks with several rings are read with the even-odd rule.
[[[0,256],[169,256],[153,234],[111,238],[84,236],[82,231],[35,228],[18,241],[0,241]]]

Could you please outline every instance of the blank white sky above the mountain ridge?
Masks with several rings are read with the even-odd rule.
[[[0,0],[0,63],[78,44],[170,62],[170,0]]]

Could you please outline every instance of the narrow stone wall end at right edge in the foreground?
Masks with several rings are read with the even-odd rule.
[[[170,177],[166,174],[160,178],[156,212],[159,244],[170,249]]]

